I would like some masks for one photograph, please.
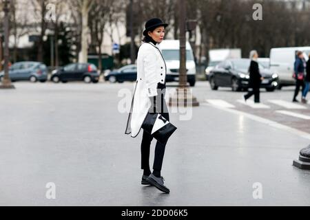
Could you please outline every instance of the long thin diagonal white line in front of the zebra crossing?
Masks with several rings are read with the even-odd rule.
[[[210,106],[207,103],[202,103],[201,105],[202,106]],[[304,131],[300,131],[298,129],[291,128],[290,126],[286,126],[286,125],[280,124],[278,122],[274,122],[272,120],[269,120],[269,119],[266,119],[266,118],[262,118],[262,117],[257,116],[257,115],[252,115],[250,113],[245,113],[244,111],[238,111],[236,109],[229,109],[229,108],[218,107],[216,105],[211,105],[211,106],[216,107],[217,109],[221,109],[223,111],[234,113],[236,115],[243,115],[246,118],[249,118],[249,119],[254,120],[256,122],[267,124],[268,126],[273,126],[276,129],[281,129],[281,130],[287,131],[289,133],[293,133],[295,135],[298,135],[300,137],[303,137],[303,138],[306,138],[306,139],[310,140],[310,133],[307,133],[307,132],[304,132]]]

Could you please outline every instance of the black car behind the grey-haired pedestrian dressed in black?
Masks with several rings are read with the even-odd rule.
[[[217,90],[218,87],[231,87],[233,91],[247,90],[249,88],[249,65],[250,59],[228,59],[216,65],[209,74],[211,89]],[[274,91],[278,87],[278,75],[273,74],[269,69],[265,69],[260,63],[260,74],[264,78],[261,88],[267,91]]]

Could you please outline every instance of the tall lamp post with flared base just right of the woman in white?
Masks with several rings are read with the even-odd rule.
[[[176,107],[198,107],[199,102],[192,95],[191,89],[187,88],[187,70],[186,70],[186,1],[178,1],[179,7],[179,28],[180,28],[180,69],[179,69],[179,85],[176,94],[169,98],[169,106]],[[187,27],[186,27],[187,26]]]

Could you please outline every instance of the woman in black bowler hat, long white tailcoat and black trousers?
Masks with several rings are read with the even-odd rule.
[[[165,102],[165,76],[167,67],[158,44],[165,36],[166,23],[161,19],[150,19],[145,24],[143,44],[138,51],[137,80],[132,98],[132,107],[127,120],[126,134],[136,137],[148,112],[158,112],[169,120],[169,112]],[[165,144],[156,143],[153,173],[149,168],[149,149],[152,135],[143,131],[141,143],[141,168],[143,176],[141,184],[153,185],[162,192],[169,193],[161,177],[161,168],[165,154]]]

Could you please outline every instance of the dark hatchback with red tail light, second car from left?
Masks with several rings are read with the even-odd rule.
[[[84,81],[85,83],[98,83],[99,73],[92,63],[71,63],[52,72],[51,80],[54,83],[67,83],[68,81]]]

